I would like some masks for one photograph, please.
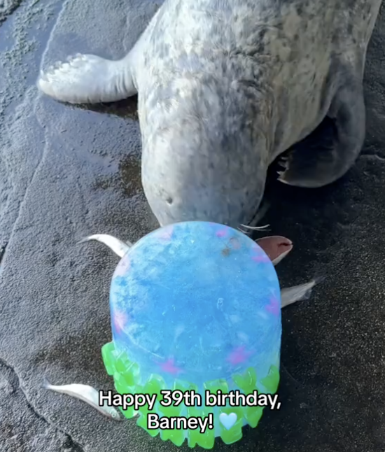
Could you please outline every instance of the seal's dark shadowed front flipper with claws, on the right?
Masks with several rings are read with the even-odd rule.
[[[346,80],[321,125],[281,159],[285,169],[279,172],[279,181],[305,188],[337,181],[356,161],[364,138],[362,83]]]

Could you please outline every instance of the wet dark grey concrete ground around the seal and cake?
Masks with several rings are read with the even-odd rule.
[[[0,5],[1,21],[17,3]],[[100,348],[111,339],[117,258],[76,241],[97,232],[135,241],[156,222],[141,189],[135,101],[90,111],[41,97],[41,59],[121,57],[155,8],[25,0],[1,24],[1,452],[188,450],[42,388],[43,376],[112,388]],[[217,451],[385,451],[384,35],[382,8],[365,73],[367,140],[353,170],[322,190],[269,184],[267,223],[295,243],[277,269],[282,285],[326,280],[283,312],[281,410]]]

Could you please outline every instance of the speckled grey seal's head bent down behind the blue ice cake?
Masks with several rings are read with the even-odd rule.
[[[147,117],[148,123],[162,118],[142,151],[148,204],[161,226],[194,220],[248,225],[269,163],[265,134],[251,120],[258,117],[255,99],[235,82],[227,90],[210,80],[189,82],[172,106],[158,101]]]

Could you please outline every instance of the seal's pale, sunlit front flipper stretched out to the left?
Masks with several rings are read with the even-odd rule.
[[[69,104],[99,104],[125,99],[137,93],[132,80],[130,54],[118,61],[96,55],[76,55],[41,71],[41,91]]]

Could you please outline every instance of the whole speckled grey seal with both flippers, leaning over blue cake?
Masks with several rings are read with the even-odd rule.
[[[380,4],[166,0],[125,58],[77,55],[38,86],[76,104],[138,93],[142,182],[160,225],[247,225],[267,167],[291,146],[279,177],[290,185],[332,183],[356,160]]]

